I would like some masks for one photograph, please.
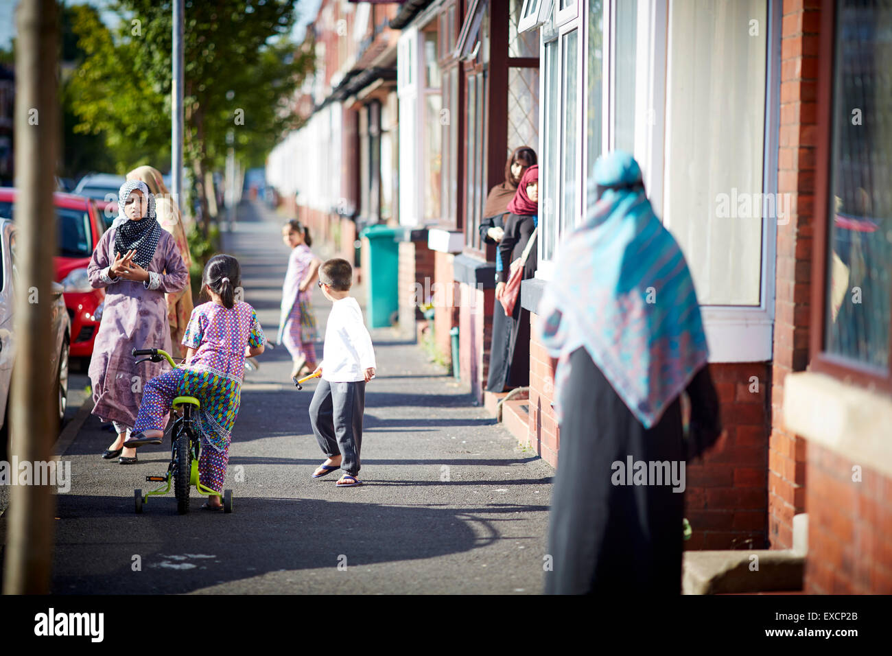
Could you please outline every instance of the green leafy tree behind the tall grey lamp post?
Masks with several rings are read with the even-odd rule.
[[[227,134],[247,168],[262,163],[283,132],[299,122],[286,103],[313,58],[288,37],[294,4],[186,0],[184,159],[194,172],[205,231],[211,190],[203,182],[206,172],[222,168]],[[157,161],[159,147],[169,145],[171,3],[119,0],[113,10],[121,19],[116,38],[107,29],[107,38],[97,35],[87,12],[76,26],[78,44],[90,51],[79,77],[85,95],[78,114],[83,129],[104,129],[110,145],[128,146],[138,158],[151,146]],[[120,161],[128,159],[128,153],[120,154]]]

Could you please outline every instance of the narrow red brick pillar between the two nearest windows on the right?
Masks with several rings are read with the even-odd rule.
[[[783,383],[808,362],[812,217],[818,69],[817,0],[786,0],[780,47],[778,192],[791,215],[777,228],[772,432],[769,442],[768,537],[773,549],[793,544],[793,515],[805,511],[805,441],[783,426]]]

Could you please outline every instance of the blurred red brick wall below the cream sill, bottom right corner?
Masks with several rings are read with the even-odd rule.
[[[809,444],[806,594],[892,594],[892,479]]]

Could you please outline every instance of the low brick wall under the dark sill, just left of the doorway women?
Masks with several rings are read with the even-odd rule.
[[[492,311],[495,289],[458,285],[458,361],[461,379],[471,385],[477,403],[483,403],[483,387],[489,375]],[[496,310],[501,305],[496,303]]]

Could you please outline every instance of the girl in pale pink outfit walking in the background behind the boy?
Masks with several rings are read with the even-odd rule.
[[[310,289],[322,263],[312,251],[310,229],[299,220],[290,220],[282,227],[282,241],[291,246],[288,270],[282,286],[282,314],[276,341],[291,353],[291,377],[300,377],[316,369],[316,317],[310,305]]]

